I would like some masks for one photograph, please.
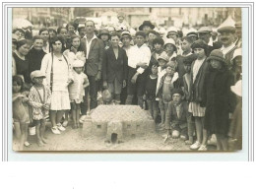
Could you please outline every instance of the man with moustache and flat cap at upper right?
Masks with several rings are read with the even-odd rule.
[[[221,50],[224,53],[225,62],[229,70],[233,70],[231,59],[233,58],[233,52],[237,48],[235,45],[235,28],[231,26],[225,26],[220,28],[218,32],[221,33],[221,42],[223,46]]]

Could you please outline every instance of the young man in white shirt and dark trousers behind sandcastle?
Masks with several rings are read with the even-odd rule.
[[[131,48],[128,55],[129,72],[126,104],[131,104],[133,96],[137,94],[138,104],[143,107],[143,95],[145,94],[145,81],[147,78],[145,69],[150,64],[151,50],[145,44],[145,32],[136,32],[135,36],[137,44]]]

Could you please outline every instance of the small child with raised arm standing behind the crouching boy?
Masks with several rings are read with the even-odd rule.
[[[178,73],[175,72],[176,63],[170,61],[166,64],[166,74],[160,79],[160,90],[157,91],[157,96],[160,97],[160,117],[161,128],[164,127],[165,112],[168,108],[168,103],[171,101],[171,95],[174,88],[178,88]]]

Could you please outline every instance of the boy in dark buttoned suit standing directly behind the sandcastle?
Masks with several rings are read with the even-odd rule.
[[[126,87],[128,58],[126,51],[119,47],[120,35],[113,33],[110,48],[105,50],[102,62],[103,88],[108,88],[116,104],[121,102],[122,88]]]

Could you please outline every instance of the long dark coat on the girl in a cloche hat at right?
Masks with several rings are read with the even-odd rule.
[[[210,67],[206,74],[202,106],[206,106],[205,128],[211,134],[227,136],[229,128],[228,113],[232,113],[235,97],[230,91],[233,85],[232,73],[226,66],[221,70]]]

